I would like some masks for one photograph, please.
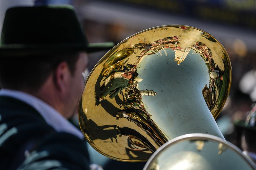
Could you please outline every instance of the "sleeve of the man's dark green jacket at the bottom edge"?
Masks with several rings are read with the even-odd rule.
[[[19,169],[89,169],[89,154],[84,141],[66,132],[45,136]]]

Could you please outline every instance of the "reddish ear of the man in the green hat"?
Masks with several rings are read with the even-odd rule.
[[[65,91],[69,78],[70,72],[68,64],[66,62],[61,62],[54,71],[54,84],[56,88],[60,91]]]

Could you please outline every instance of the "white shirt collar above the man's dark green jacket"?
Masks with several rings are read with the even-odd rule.
[[[63,117],[57,110],[45,103],[43,100],[40,100],[37,97],[25,92],[7,89],[1,89],[0,96],[9,96],[27,103],[28,105],[34,107],[40,113],[40,115],[42,115],[44,120],[56,131],[71,133],[80,139],[84,139],[84,135],[80,130],[68,122],[65,117]]]

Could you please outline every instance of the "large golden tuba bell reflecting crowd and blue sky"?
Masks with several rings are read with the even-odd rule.
[[[94,67],[79,103],[80,127],[109,158],[145,161],[180,135],[223,138],[214,118],[230,83],[228,54],[212,35],[191,26],[151,28],[117,44]]]

